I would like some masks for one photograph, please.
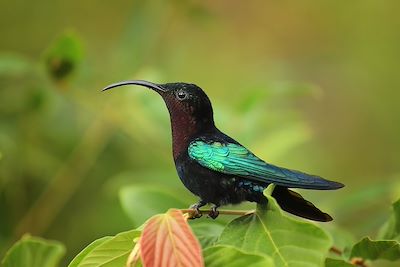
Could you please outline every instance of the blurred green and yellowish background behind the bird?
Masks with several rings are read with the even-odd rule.
[[[146,205],[170,206],[130,190],[196,201],[175,173],[161,98],[100,92],[126,79],[196,83],[220,129],[269,162],[345,183],[302,194],[356,238],[375,233],[400,196],[399,8],[0,0],[0,255],[29,232],[65,243],[68,261],[138,226]]]

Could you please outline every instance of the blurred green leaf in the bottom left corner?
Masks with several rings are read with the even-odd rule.
[[[64,245],[25,235],[6,253],[2,267],[55,267],[65,254]]]

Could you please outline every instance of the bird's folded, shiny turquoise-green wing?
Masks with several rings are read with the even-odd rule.
[[[343,186],[319,176],[268,164],[239,144],[197,140],[189,145],[188,153],[203,167],[248,180],[306,189],[337,189]]]

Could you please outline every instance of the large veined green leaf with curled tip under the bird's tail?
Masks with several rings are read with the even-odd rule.
[[[332,240],[318,226],[284,214],[267,194],[268,205],[258,205],[254,214],[233,220],[219,240],[247,253],[272,257],[279,266],[323,266]]]

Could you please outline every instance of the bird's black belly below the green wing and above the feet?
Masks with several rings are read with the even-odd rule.
[[[265,188],[253,186],[239,177],[209,170],[190,159],[177,161],[176,169],[187,189],[202,200],[217,205],[237,204],[245,200],[259,202]]]

